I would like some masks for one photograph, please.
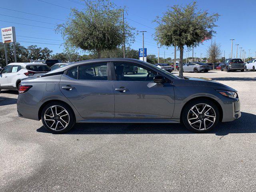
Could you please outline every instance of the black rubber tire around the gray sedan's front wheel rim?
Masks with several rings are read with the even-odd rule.
[[[213,120],[213,117],[209,117],[209,116],[204,116],[203,115],[203,114],[207,115],[207,110],[208,110],[208,108],[210,108],[210,107],[206,106],[206,108],[205,108],[204,112],[202,112],[202,114],[199,114],[198,112],[196,112],[197,113],[196,115],[198,116],[198,118],[197,119],[193,119],[193,121],[199,121],[198,123],[192,122],[191,119],[190,119],[191,122],[189,122],[189,120],[188,120],[189,116],[191,114],[194,114],[194,113],[192,113],[192,111],[190,111],[190,109],[193,108],[196,105],[198,105],[198,106],[202,105],[202,108],[204,108],[205,104],[210,106],[213,109],[213,111],[212,111],[212,109],[210,109],[210,112],[214,112],[213,114],[215,114],[215,120]],[[202,108],[200,108],[200,107],[198,108],[199,112],[201,111]],[[203,117],[200,119],[201,116],[203,116]],[[209,127],[206,128],[206,129],[204,129],[205,126],[207,126],[207,125],[204,125],[204,119],[205,118],[212,118],[210,120],[213,121],[213,123],[210,122],[210,121],[205,121],[206,124],[208,124],[208,123],[212,124],[212,125],[209,124]],[[182,113],[182,117],[181,117],[181,120],[182,120],[182,123],[184,124],[184,126],[186,126],[186,128],[188,130],[190,130],[192,132],[196,132],[196,133],[206,133],[206,132],[209,132],[210,130],[214,129],[214,127],[216,127],[216,125],[218,124],[219,119],[220,119],[220,112],[218,110],[218,107],[212,101],[207,100],[207,99],[198,99],[198,100],[194,100],[194,101],[189,102],[188,104],[186,104],[186,106],[184,107],[183,113]],[[201,125],[200,125],[200,121],[201,121]],[[201,129],[196,129],[191,124],[193,124],[193,126],[199,126],[200,125]]]

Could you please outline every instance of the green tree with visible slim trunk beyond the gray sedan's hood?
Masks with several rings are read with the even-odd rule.
[[[209,14],[207,11],[198,10],[196,2],[186,6],[174,5],[154,20],[156,27],[155,40],[161,46],[177,46],[180,50],[180,71],[183,76],[183,51],[184,46],[197,46],[205,36],[209,36],[216,26],[219,14]]]

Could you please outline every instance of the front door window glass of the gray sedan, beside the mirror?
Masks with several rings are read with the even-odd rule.
[[[154,82],[156,72],[130,63],[114,63],[116,80],[118,81],[149,81]]]

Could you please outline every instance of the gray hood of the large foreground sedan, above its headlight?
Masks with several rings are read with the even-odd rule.
[[[207,79],[201,79],[201,78],[192,78],[192,77],[186,77],[186,81],[197,85],[197,86],[208,86],[212,87],[215,90],[223,90],[223,91],[232,91],[232,92],[237,92],[237,90],[226,86],[224,84],[221,84],[219,82],[213,81],[213,80],[207,80]]]

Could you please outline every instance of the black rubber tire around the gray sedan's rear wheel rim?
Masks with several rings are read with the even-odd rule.
[[[47,111],[48,111],[48,110],[50,111],[50,107],[51,107],[51,106],[60,106],[60,108],[64,108],[64,109],[66,110],[66,112],[68,113],[69,120],[67,121],[67,120],[65,119],[65,121],[68,122],[68,123],[64,124],[65,121],[63,121],[63,119],[60,119],[60,117],[58,118],[58,120],[59,120],[60,122],[62,122],[63,125],[66,126],[65,128],[62,128],[62,129],[58,128],[59,123],[56,123],[58,120],[56,120],[56,119],[53,118],[53,117],[52,117],[52,120],[48,120],[48,121],[45,120],[44,117],[46,117],[46,115],[45,115],[46,110],[47,110]],[[55,111],[54,111],[54,108],[53,108],[52,112],[55,112]],[[57,110],[57,112],[58,112],[58,110]],[[65,112],[65,114],[66,114],[66,112]],[[56,114],[56,113],[55,113],[55,114]],[[54,114],[53,114],[52,116],[54,116]],[[57,116],[57,115],[56,115],[56,116]],[[58,115],[58,116],[60,116],[60,115]],[[47,118],[51,119],[51,117],[47,117]],[[49,104],[47,104],[46,106],[44,106],[44,108],[43,108],[43,110],[42,110],[42,114],[41,114],[41,119],[42,119],[42,123],[43,123],[44,127],[45,127],[48,131],[50,131],[50,132],[52,132],[52,133],[57,133],[57,134],[59,134],[59,133],[64,133],[64,132],[68,132],[68,131],[74,126],[74,124],[75,124],[75,122],[76,122],[76,119],[75,119],[75,117],[74,117],[74,114],[73,114],[72,109],[71,109],[67,104],[64,104],[64,103],[62,103],[62,102],[50,102]],[[57,127],[57,128],[60,129],[60,130],[53,130],[52,128],[53,128],[54,126],[53,126],[52,128],[50,128],[49,122],[52,122],[52,121],[55,123],[54,126],[57,124],[55,127]],[[57,129],[57,128],[56,128],[56,129]]]

